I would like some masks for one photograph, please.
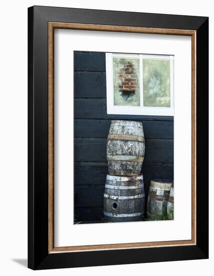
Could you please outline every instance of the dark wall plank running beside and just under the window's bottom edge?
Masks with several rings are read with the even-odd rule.
[[[75,98],[75,119],[146,119],[146,120],[173,120],[173,116],[145,116],[145,115],[114,115],[107,114],[106,99]]]

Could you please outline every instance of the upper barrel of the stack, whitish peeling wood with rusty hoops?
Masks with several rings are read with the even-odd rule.
[[[139,175],[144,159],[144,150],[141,122],[111,121],[106,146],[109,175]]]

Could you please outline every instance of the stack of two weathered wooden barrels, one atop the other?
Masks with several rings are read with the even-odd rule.
[[[144,185],[140,172],[144,150],[142,123],[111,121],[106,145],[108,175],[103,202],[106,222],[143,219]]]

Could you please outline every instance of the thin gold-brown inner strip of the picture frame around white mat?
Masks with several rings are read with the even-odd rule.
[[[191,239],[54,247],[54,29],[191,36]],[[128,26],[48,23],[48,252],[110,250],[196,244],[196,31]]]

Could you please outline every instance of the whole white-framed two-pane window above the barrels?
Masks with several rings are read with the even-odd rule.
[[[174,56],[106,53],[107,114],[173,116]]]

